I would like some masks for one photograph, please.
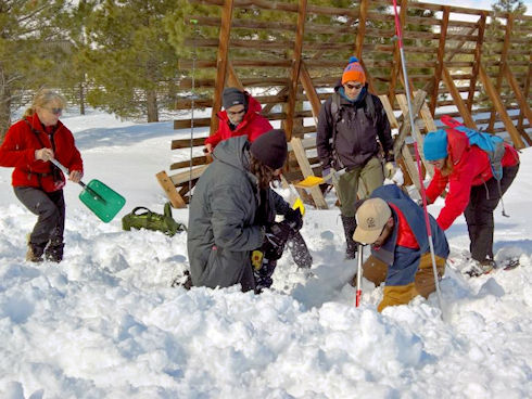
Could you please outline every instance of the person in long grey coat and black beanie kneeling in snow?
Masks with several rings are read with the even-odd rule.
[[[190,204],[187,246],[192,285],[241,284],[244,292],[271,285],[277,259],[303,226],[301,213],[270,188],[287,153],[284,131],[277,129],[253,143],[238,137],[216,146],[214,162],[198,181]],[[275,215],[284,215],[284,220],[274,222]],[[264,261],[254,269],[255,249]]]

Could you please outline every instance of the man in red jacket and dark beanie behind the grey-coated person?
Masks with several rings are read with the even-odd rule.
[[[221,141],[237,136],[248,136],[253,142],[261,134],[273,129],[268,119],[259,114],[262,106],[250,93],[237,88],[226,88],[221,95],[225,111],[219,112],[219,127],[205,139],[205,150],[211,154]]]

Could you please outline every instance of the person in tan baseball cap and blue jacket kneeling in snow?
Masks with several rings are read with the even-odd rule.
[[[448,256],[447,239],[429,215],[439,275],[443,275]],[[371,244],[364,262],[364,278],[379,285],[384,296],[377,310],[408,304],[417,295],[434,292],[434,274],[423,209],[394,184],[376,189],[358,206],[353,240]]]

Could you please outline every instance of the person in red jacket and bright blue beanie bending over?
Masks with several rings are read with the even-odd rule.
[[[471,258],[479,272],[489,272],[493,260],[493,211],[519,170],[519,155],[505,143],[502,159],[503,178],[493,177],[487,153],[471,145],[467,136],[456,129],[438,130],[427,134],[423,153],[434,166],[434,177],[427,188],[427,201],[432,204],[448,183],[445,206],[438,224],[447,230],[464,213],[470,239]],[[501,185],[499,185],[501,184]]]

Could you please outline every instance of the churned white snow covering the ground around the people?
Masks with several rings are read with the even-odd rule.
[[[29,263],[36,218],[13,194],[12,169],[0,169],[1,398],[531,397],[531,149],[504,198],[510,218],[495,213],[496,259],[521,266],[464,276],[460,218],[448,231],[443,311],[433,294],[381,314],[382,287],[368,281],[354,307],[355,265],[342,260],[338,209],[307,207],[302,234],[314,266],[297,270],[283,256],[271,291],[172,287],[188,267],[186,233],[126,232],[121,217],[136,206],[162,211],[155,173],[188,158],[170,142],[190,131],[98,112],[62,120],[81,151],[84,180],[103,181],[127,204],[102,223],[69,182],[65,258]],[[174,216],[188,220],[186,209]]]

